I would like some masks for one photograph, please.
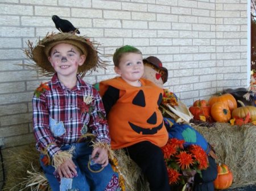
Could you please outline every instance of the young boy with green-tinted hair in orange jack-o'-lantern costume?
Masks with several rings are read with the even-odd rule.
[[[142,53],[133,46],[122,46],[113,56],[115,73],[120,77],[100,82],[100,94],[109,123],[111,146],[124,148],[147,177],[151,191],[168,191],[168,174],[160,147],[168,133],[158,107],[163,89],[141,78]]]

